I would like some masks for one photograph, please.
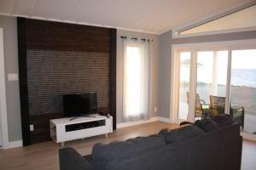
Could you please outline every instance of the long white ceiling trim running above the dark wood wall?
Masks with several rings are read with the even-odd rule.
[[[99,26],[99,27],[104,27],[104,28],[115,28],[115,29],[124,30],[124,31],[136,31],[136,32],[142,32],[142,33],[147,33],[147,34],[160,35],[160,32],[143,31],[143,30],[124,28],[124,27],[93,24],[93,23],[88,23],[88,22],[78,22],[78,21],[72,21],[72,20],[58,20],[58,19],[43,18],[43,17],[37,17],[37,16],[20,15],[20,14],[0,13],[0,15],[11,16],[11,17],[23,17],[23,18],[35,19],[35,20],[48,20],[48,21],[55,21],[55,22],[61,22],[61,23],[83,25],[83,26]]]

